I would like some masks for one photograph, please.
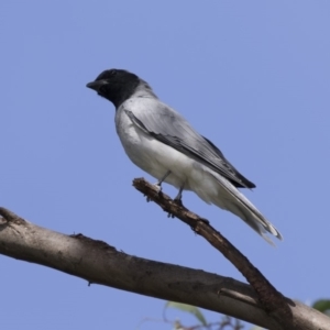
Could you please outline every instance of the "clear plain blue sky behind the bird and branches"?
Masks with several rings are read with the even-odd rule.
[[[125,68],[256,184],[244,193],[284,242],[271,248],[191,193],[187,207],[285,295],[330,297],[329,16],[329,1],[1,1],[1,206],[129,254],[243,279],[132,188],[134,177],[154,179],[125,156],[113,106],[85,87]],[[7,330],[135,329],[162,317],[158,299],[4,256],[0,270]],[[169,328],[142,329],[155,327]]]

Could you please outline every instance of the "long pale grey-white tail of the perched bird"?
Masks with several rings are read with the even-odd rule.
[[[209,174],[219,183],[218,194],[212,196],[210,202],[240,217],[270,244],[274,245],[273,241],[266,235],[267,232],[283,240],[279,231],[230,182],[218,174]]]

